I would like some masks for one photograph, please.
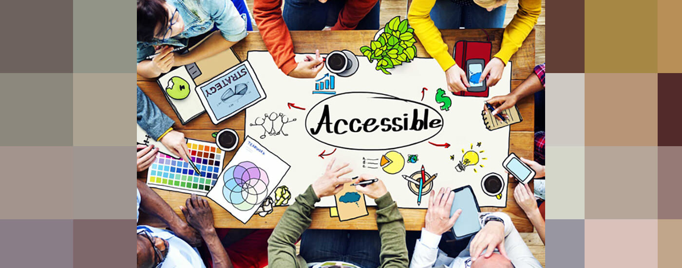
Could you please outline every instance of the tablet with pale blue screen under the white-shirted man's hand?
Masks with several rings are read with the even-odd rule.
[[[455,199],[452,201],[450,209],[450,216],[452,216],[457,209],[462,209],[460,218],[457,218],[455,225],[452,226],[452,233],[455,234],[456,239],[464,239],[481,230],[481,224],[478,220],[478,213],[481,208],[478,207],[478,201],[473,194],[471,185],[452,190],[455,194]]]

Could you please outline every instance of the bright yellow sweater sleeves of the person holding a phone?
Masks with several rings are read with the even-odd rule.
[[[407,18],[410,26],[415,29],[419,42],[426,48],[426,52],[436,59],[445,71],[455,65],[455,60],[447,53],[447,44],[443,42],[441,32],[436,28],[429,15],[435,4],[436,0],[413,0]],[[523,40],[535,27],[541,11],[542,0],[519,0],[518,11],[505,28],[502,47],[493,57],[499,58],[507,64],[511,55],[516,53]]]

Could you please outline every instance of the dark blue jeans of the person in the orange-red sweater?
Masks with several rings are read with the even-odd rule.
[[[356,30],[379,29],[380,3],[381,1],[377,1],[374,8],[357,23]],[[345,4],[344,1],[320,3],[317,0],[287,0],[284,1],[282,18],[290,31],[317,31],[327,25],[336,24],[339,12]]]

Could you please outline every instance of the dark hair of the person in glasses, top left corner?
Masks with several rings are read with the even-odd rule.
[[[150,42],[156,32],[156,25],[168,25],[168,10],[165,0],[137,0],[137,40]],[[159,31],[162,31],[161,27]]]

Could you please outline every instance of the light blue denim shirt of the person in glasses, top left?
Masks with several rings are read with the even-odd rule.
[[[168,44],[185,47],[188,38],[201,35],[213,29],[213,25],[220,30],[222,37],[231,42],[237,42],[246,37],[246,21],[237,12],[231,0],[166,0],[177,8],[185,23],[185,31],[162,42],[155,39],[152,42],[137,42],[137,62],[154,55],[154,46]]]

